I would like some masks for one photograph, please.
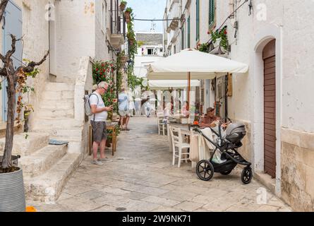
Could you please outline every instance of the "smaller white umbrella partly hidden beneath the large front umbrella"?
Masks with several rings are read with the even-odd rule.
[[[148,85],[152,90],[167,90],[168,88],[186,88],[188,83],[186,80],[151,80]],[[200,86],[200,81],[192,80],[191,87]]]

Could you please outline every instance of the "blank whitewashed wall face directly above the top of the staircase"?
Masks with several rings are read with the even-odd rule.
[[[56,1],[56,81],[74,82],[80,57],[95,57],[95,1]]]

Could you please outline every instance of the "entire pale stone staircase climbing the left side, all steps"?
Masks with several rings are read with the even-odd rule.
[[[28,200],[54,203],[68,177],[83,160],[83,122],[74,115],[73,83],[46,83],[31,133],[14,136],[14,155],[20,155]],[[49,139],[68,145],[49,145]],[[4,146],[0,140],[1,147]],[[3,148],[2,148],[3,150]]]

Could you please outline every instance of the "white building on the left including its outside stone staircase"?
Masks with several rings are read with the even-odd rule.
[[[4,31],[4,52],[11,45],[8,34],[23,36],[14,55],[38,61],[47,50],[49,59],[30,81],[35,112],[30,114],[28,141],[16,135],[16,154],[25,174],[28,198],[55,201],[68,176],[88,149],[88,125],[83,96],[92,89],[92,59],[114,60],[124,43],[123,13],[119,0],[54,1],[10,0]],[[6,121],[5,81],[1,93],[2,128]],[[49,139],[68,145],[47,145]],[[20,142],[20,143],[18,143]],[[0,141],[4,143],[4,139]]]

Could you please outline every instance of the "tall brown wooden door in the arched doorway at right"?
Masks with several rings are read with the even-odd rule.
[[[276,40],[263,50],[265,173],[276,177]]]

